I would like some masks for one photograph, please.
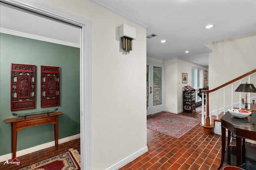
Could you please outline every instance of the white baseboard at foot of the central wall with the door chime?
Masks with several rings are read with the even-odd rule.
[[[114,164],[107,170],[118,170],[119,168],[122,168],[124,165],[128,164],[129,162],[132,162],[134,159],[138,158],[139,156],[141,156],[142,154],[144,154],[146,152],[148,152],[148,146],[146,146],[145,148],[142,148],[138,152],[135,152],[134,154],[128,156],[127,158],[118,162],[117,164]]]

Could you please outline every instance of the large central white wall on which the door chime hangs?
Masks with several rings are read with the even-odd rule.
[[[92,21],[92,169],[145,149],[146,29],[88,0],[40,1]],[[120,49],[121,24],[136,28],[128,54]]]

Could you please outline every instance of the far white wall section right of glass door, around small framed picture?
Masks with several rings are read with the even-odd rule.
[[[208,70],[206,67],[189,63],[180,59],[165,61],[165,110],[171,113],[183,111],[182,88],[191,86],[191,69],[197,67]],[[188,83],[182,83],[182,73],[188,73]]]

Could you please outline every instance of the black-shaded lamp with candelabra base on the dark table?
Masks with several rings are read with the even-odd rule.
[[[245,93],[245,100],[244,98],[242,98],[241,102],[242,104],[244,105],[244,109],[247,111],[247,108],[248,108],[248,104],[250,105],[254,105],[254,100],[252,100],[252,103],[247,103],[247,92],[250,92],[250,93],[256,93],[256,88],[254,87],[253,84],[240,84],[237,89],[235,90],[237,92],[246,92]]]

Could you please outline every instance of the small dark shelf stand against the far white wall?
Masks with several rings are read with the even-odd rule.
[[[183,111],[192,113],[196,111],[195,89],[185,86],[188,90],[183,91]]]

